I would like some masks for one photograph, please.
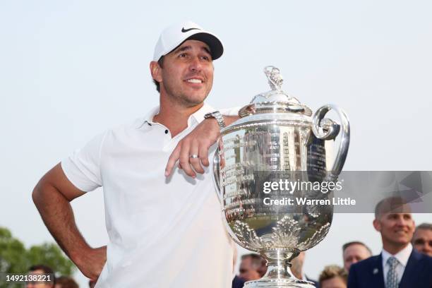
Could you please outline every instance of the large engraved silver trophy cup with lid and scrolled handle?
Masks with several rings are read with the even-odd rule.
[[[232,239],[268,261],[264,277],[245,287],[313,287],[292,275],[290,261],[324,239],[333,209],[296,200],[332,198],[332,191],[307,184],[337,181],[347,157],[349,121],[333,105],[320,107],[312,117],[310,108],[282,91],[279,69],[264,71],[271,90],[256,95],[239,111],[241,118],[222,129],[213,179]],[[324,118],[331,109],[340,124]],[[326,169],[325,140],[338,135],[335,163]],[[287,181],[306,185],[289,190]]]

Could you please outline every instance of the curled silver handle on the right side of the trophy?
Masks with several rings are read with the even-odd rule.
[[[331,119],[324,118],[325,114],[330,110],[335,110],[337,115],[340,118],[341,124],[337,124],[335,121]],[[312,131],[315,134],[316,138],[323,140],[331,140],[335,139],[336,136],[340,133],[340,146],[339,150],[337,150],[337,155],[335,158],[335,163],[332,166],[332,169],[328,173],[328,180],[336,181],[337,176],[339,176],[342,171],[342,167],[344,166],[345,160],[347,159],[347,153],[349,148],[349,120],[347,114],[344,110],[340,109],[336,105],[327,104],[323,107],[320,107],[315,114],[313,114],[312,121]]]

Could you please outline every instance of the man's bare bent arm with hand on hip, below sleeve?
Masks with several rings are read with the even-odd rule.
[[[32,198],[66,255],[86,277],[96,280],[107,259],[107,247],[91,248],[76,227],[70,202],[83,194],[67,179],[61,165],[56,164],[37,183]]]

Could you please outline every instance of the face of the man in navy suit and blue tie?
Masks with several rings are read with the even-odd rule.
[[[411,213],[382,213],[373,220],[373,227],[380,232],[383,245],[404,247],[409,244],[414,234],[414,220]]]

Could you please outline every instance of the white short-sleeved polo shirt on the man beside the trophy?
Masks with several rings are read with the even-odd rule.
[[[108,130],[61,162],[80,190],[104,189],[109,244],[96,287],[231,287],[232,244],[211,164],[196,179],[180,169],[164,176],[179,140],[215,109],[204,104],[174,138],[152,122],[158,111]]]

